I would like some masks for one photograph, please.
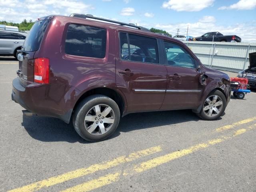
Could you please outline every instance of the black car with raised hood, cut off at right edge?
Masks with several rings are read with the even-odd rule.
[[[249,54],[250,66],[248,69],[240,71],[238,77],[248,79],[251,88],[256,88],[256,52]]]

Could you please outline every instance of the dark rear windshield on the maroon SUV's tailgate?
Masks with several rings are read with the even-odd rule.
[[[33,25],[23,44],[24,51],[37,51],[39,49],[49,22],[50,20],[40,20]]]

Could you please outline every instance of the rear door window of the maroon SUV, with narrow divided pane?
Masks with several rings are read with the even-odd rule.
[[[159,63],[157,41],[154,38],[128,34],[129,45],[125,33],[120,33],[121,58],[146,63]]]

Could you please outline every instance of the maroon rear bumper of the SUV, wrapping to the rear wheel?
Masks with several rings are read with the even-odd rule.
[[[32,83],[26,87],[19,78],[12,81],[12,100],[39,116],[60,118],[69,123],[77,90],[68,85]]]

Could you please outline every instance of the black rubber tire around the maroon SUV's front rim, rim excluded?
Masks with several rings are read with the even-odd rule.
[[[204,112],[204,103],[206,102],[206,99],[209,98],[210,96],[219,96],[220,99],[222,100],[222,108],[220,109],[220,112],[218,114],[216,114],[215,116],[208,116],[205,112]],[[219,90],[213,90],[212,92],[210,92],[210,94],[208,94],[208,96],[204,99],[204,103],[202,105],[202,109],[200,111],[200,113],[198,114],[198,116],[204,120],[216,120],[218,119],[225,111],[226,109],[226,97],[224,96],[224,94],[219,91]]]

